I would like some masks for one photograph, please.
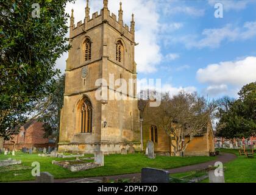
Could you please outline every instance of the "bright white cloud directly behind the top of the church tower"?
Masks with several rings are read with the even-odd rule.
[[[90,15],[103,7],[102,0],[89,1]],[[155,7],[157,2],[154,0],[129,0],[123,1],[124,23],[130,26],[132,13],[135,14],[135,41],[139,43],[135,47],[135,61],[137,62],[137,71],[140,73],[153,73],[157,71],[157,65],[162,60],[160,46],[158,43],[158,33],[160,32],[159,14]],[[77,0],[76,4],[67,4],[66,12],[71,13],[74,9],[75,23],[85,17],[85,1]],[[119,1],[109,0],[108,9],[110,12],[118,15]],[[147,49],[150,48],[150,49]],[[57,62],[57,67],[63,69],[66,55]]]

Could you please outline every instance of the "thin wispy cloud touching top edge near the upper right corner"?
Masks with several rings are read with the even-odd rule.
[[[208,3],[212,6],[214,6],[216,3],[221,3],[223,5],[224,11],[229,10],[243,10],[246,9],[247,5],[251,2],[254,2],[254,0],[243,0],[243,1],[237,1],[237,0],[208,0]]]

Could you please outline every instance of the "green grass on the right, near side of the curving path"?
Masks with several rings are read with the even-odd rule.
[[[221,149],[221,152],[229,152],[237,155],[237,158],[228,163],[224,163],[225,182],[226,183],[256,183],[256,155],[254,158],[240,156],[237,149]],[[172,174],[172,177],[183,177],[192,174],[193,172],[183,172]],[[209,180],[202,180],[201,183],[208,183]]]

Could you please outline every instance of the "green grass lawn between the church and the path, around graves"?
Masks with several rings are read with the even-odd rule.
[[[85,155],[86,156],[86,155]],[[52,165],[52,160],[72,160],[75,158],[54,158],[54,157],[38,157],[38,154],[24,154],[16,152],[16,156],[0,154],[0,160],[13,158],[22,160],[24,166],[31,166],[32,162],[40,163],[40,172],[49,172],[55,179],[64,179],[69,177],[93,177],[93,176],[112,176],[118,174],[127,174],[140,172],[141,168],[152,167],[160,169],[171,169],[180,166],[194,165],[205,161],[214,160],[215,157],[157,157],[149,159],[144,154],[112,154],[105,155],[104,166],[101,168],[90,169],[87,171],[71,172],[68,169],[57,165]],[[0,168],[0,182],[13,182],[23,180],[35,180],[31,175],[31,169],[3,171]]]

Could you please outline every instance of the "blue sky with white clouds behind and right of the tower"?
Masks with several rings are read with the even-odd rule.
[[[123,0],[124,21],[135,13],[138,79],[162,79],[162,90],[197,91],[210,98],[236,97],[256,80],[256,1]],[[223,18],[215,18],[215,4]],[[119,1],[108,9],[118,15]],[[76,23],[84,19],[85,1],[69,4]],[[90,0],[93,12],[102,0]],[[65,69],[63,55],[57,67]]]

